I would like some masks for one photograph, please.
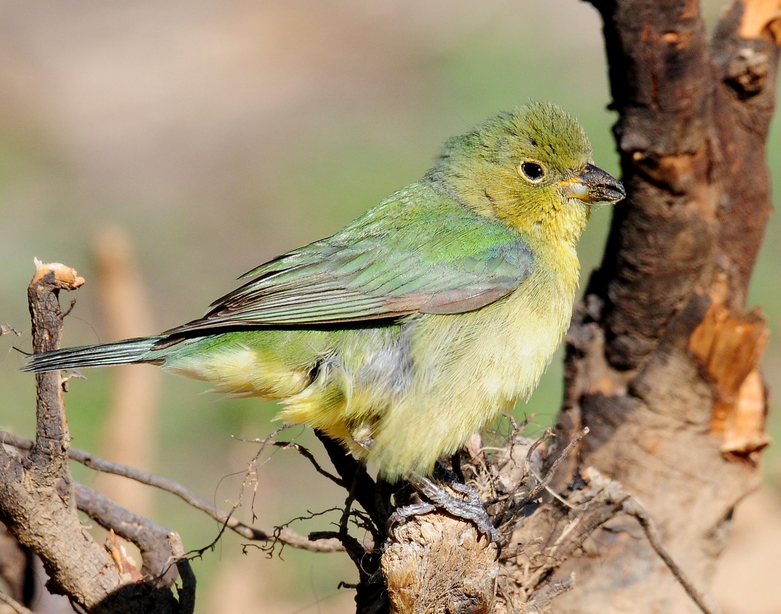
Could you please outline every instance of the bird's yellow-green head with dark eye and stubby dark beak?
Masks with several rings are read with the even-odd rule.
[[[547,102],[501,113],[451,138],[429,176],[483,216],[572,247],[593,205],[626,195],[618,180],[594,166],[580,123]]]

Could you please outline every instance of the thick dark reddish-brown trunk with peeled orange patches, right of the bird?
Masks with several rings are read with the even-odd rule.
[[[558,441],[590,434],[558,485],[589,466],[618,480],[708,587],[768,443],[768,331],[744,305],[771,211],[779,6],[736,2],[708,44],[697,2],[594,4],[629,196],[569,330]],[[565,564],[577,581],[557,612],[697,611],[634,527],[612,519]]]

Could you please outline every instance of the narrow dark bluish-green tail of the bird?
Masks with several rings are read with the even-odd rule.
[[[30,355],[22,371],[40,373],[59,369],[78,369],[87,366],[129,365],[134,362],[155,362],[148,357],[160,337],[139,337],[100,345],[81,345],[54,352]]]

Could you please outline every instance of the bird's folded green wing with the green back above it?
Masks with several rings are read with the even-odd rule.
[[[472,311],[531,272],[532,250],[503,224],[455,202],[421,206],[394,196],[332,237],[251,270],[242,279],[255,279],[203,318],[166,333]]]

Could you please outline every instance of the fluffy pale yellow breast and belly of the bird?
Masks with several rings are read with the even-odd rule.
[[[550,277],[531,281],[475,312],[420,319],[412,387],[382,416],[369,452],[386,477],[429,473],[537,386],[568,326],[573,293]]]

